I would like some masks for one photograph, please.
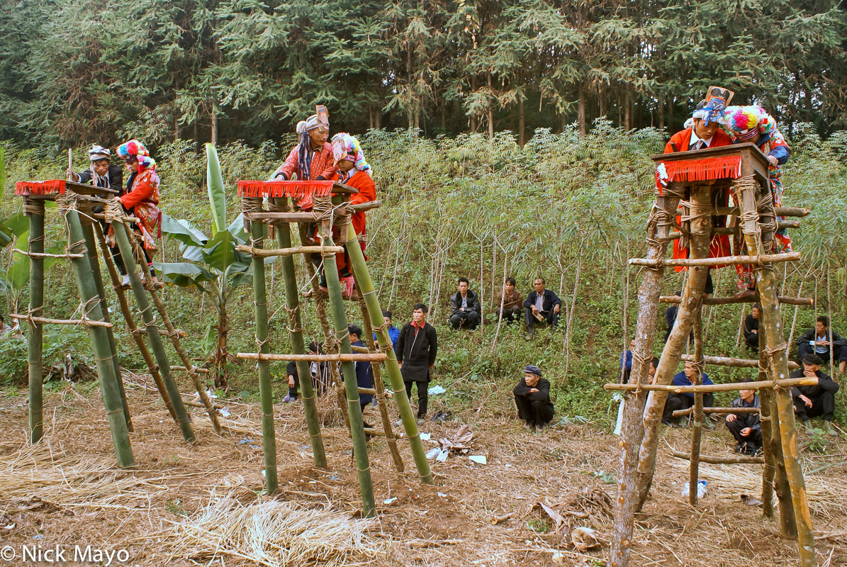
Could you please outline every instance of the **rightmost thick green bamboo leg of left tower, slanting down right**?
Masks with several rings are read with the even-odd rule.
[[[136,263],[133,261],[132,247],[130,246],[130,238],[127,235],[127,228],[124,223],[115,220],[112,223],[115,240],[118,242],[120,255],[124,258],[126,273],[130,276],[130,286],[132,293],[136,297],[136,305],[141,311],[141,319],[144,320],[144,326],[147,330],[147,340],[152,347],[153,356],[156,357],[156,364],[159,367],[159,374],[162,375],[165,388],[168,390],[170,403],[174,405],[176,412],[177,423],[180,425],[182,437],[187,442],[194,442],[194,431],[191,429],[191,419],[185,411],[185,404],[182,403],[182,396],[179,387],[174,381],[174,374],[170,370],[168,355],[164,351],[162,337],[158,334],[158,325],[153,322],[153,314],[150,306],[150,300],[147,299],[147,293],[144,290],[144,284],[141,283],[141,276],[136,270]]]

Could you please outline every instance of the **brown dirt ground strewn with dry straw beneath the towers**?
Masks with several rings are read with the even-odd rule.
[[[129,559],[119,563],[116,558],[112,564],[139,566],[260,564],[244,553],[227,553],[223,540],[215,553],[214,547],[202,545],[191,550],[180,539],[185,523],[196,519],[212,493],[233,494],[246,504],[266,499],[258,495],[263,490],[258,405],[226,403],[230,416],[221,421],[231,431],[223,435],[213,432],[201,409],[189,408],[197,433],[197,443],[189,445],[149,379],[133,375],[127,392],[135,425],[132,470],[115,467],[96,388],[82,395],[79,386],[67,386],[48,395],[46,436],[36,447],[25,440],[25,392],[0,397],[0,548],[123,549]],[[436,399],[435,410],[438,404]],[[363,543],[352,542],[352,552],[336,557],[334,564],[603,564],[612,525],[617,437],[597,424],[560,425],[532,434],[505,413],[469,410],[421,428],[435,441],[468,424],[474,433],[471,453],[487,458],[487,464],[455,454],[444,463],[430,461],[435,486],[418,482],[405,439],[398,443],[406,471],[399,473],[385,438],[374,438],[369,457],[378,514],[368,523],[367,537],[376,551],[357,553]],[[374,409],[368,409],[368,416],[379,421]],[[312,467],[305,431],[299,403],[277,406],[278,498],[356,518],[360,500],[346,429],[324,429],[329,470]],[[424,447],[435,447],[434,441],[424,442]],[[729,441],[721,428],[707,433],[703,453],[728,453]],[[637,519],[631,564],[798,564],[796,545],[780,537],[778,519],[766,520],[761,508],[741,500],[742,494],[760,496],[761,465],[703,465],[701,478],[708,481],[708,494],[693,509],[680,496],[687,464],[669,454],[671,447],[686,450],[689,431],[663,429],[660,442],[656,479]],[[843,441],[831,442],[826,453],[805,453],[823,565],[847,564],[845,447]],[[535,506],[540,502],[562,514],[558,531],[551,517]],[[494,523],[507,514],[512,516]],[[595,529],[601,545],[577,551],[571,530],[580,526]],[[315,527],[319,534],[320,526]],[[333,562],[315,557],[300,564]],[[0,567],[3,564],[29,563],[19,557],[4,563],[0,558]]]

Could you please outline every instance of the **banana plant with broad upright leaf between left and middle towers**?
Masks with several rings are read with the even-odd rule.
[[[218,153],[206,144],[206,185],[212,213],[213,234],[206,236],[187,220],[162,215],[162,232],[180,242],[180,252],[187,262],[153,264],[166,283],[194,287],[206,293],[218,314],[217,341],[208,353],[215,370],[214,386],[227,388],[227,361],[238,362],[227,350],[229,334],[227,303],[238,286],[252,283],[251,256],[235,249],[246,244],[241,215],[226,224],[226,193],[220,172]]]

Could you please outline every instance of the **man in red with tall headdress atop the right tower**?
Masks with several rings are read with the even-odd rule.
[[[710,86],[706,98],[697,104],[697,108],[691,115],[689,120],[685,121],[685,130],[678,131],[671,136],[670,141],[665,146],[664,153],[673,152],[689,152],[694,150],[706,149],[707,147],[730,146],[733,143],[724,131],[721,130],[723,122],[723,112],[727,104],[733,97],[733,92],[727,89],[722,89],[716,86]],[[727,206],[728,195],[719,197],[722,202],[721,206]],[[714,219],[715,225],[723,225],[726,223],[725,218]],[[679,222],[679,217],[677,217]],[[709,257],[718,258],[721,256],[729,256],[731,249],[729,247],[729,236],[715,235],[711,239],[709,245]],[[679,241],[673,241],[673,258],[688,258],[689,250],[687,247],[680,247]],[[715,266],[712,266],[714,268]],[[677,266],[676,271],[684,270],[684,267]],[[709,281],[706,283],[706,293],[711,295],[711,274]]]

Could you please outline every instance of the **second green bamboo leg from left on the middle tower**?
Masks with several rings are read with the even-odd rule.
[[[274,207],[278,210],[286,208],[285,199],[276,199]],[[280,248],[290,248],[291,225],[277,225],[276,240]],[[280,258],[280,264],[282,265],[282,280],[285,285],[285,311],[288,313],[288,335],[291,337],[291,348],[295,354],[305,354],[306,345],[303,340],[300,296],[297,293],[294,257],[283,256]],[[300,397],[303,401],[303,411],[306,413],[309,441],[312,443],[312,457],[316,467],[325,469],[326,452],[324,451],[324,438],[320,433],[318,406],[315,402],[315,390],[309,375],[309,364],[305,360],[298,360],[296,366],[297,375],[300,376]]]

